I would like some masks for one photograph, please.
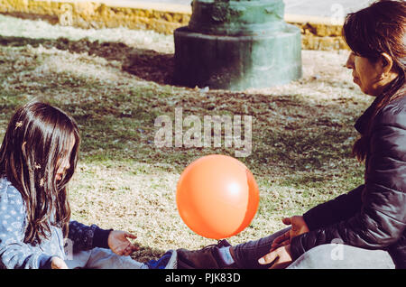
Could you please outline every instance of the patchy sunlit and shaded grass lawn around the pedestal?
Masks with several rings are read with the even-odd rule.
[[[73,116],[82,137],[70,184],[72,218],[134,233],[143,261],[214,240],[194,234],[175,202],[180,172],[233,148],[157,148],[157,116],[253,116],[253,150],[239,158],[254,173],[260,206],[232,244],[268,236],[363,182],[351,157],[355,120],[372,102],[343,68],[348,51],[302,51],[304,76],[244,92],[171,85],[173,38],[124,28],[81,30],[0,15],[0,138],[17,106],[38,97]],[[224,145],[222,145],[224,146]]]

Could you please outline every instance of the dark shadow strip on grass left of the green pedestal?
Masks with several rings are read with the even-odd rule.
[[[88,39],[72,41],[67,38],[32,39],[25,37],[0,36],[0,45],[21,47],[57,48],[62,51],[75,53],[88,52],[106,60],[118,60],[122,69],[134,76],[153,81],[161,85],[173,85],[174,69],[173,54],[130,47],[123,42],[91,42]]]

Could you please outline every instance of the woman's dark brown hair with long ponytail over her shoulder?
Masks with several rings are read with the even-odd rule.
[[[376,62],[385,52],[392,57],[392,70],[399,76],[394,79],[382,95],[374,102],[374,109],[364,134],[355,142],[353,155],[362,162],[368,153],[372,123],[383,106],[402,97],[400,89],[405,83],[406,69],[406,2],[381,0],[363,10],[348,14],[343,27],[343,36],[355,54]]]

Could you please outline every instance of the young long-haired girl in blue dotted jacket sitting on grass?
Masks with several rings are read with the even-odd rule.
[[[138,263],[127,239],[136,236],[70,221],[79,142],[75,121],[48,104],[29,103],[12,117],[0,148],[0,268],[175,268],[174,251]]]

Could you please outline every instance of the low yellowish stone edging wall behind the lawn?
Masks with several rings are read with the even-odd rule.
[[[43,19],[50,23],[80,28],[148,29],[170,34],[186,26],[190,19],[189,7],[121,1],[78,0],[0,0],[0,13],[29,19]],[[314,18],[314,17],[313,17]],[[302,48],[306,50],[347,49],[341,37],[342,25],[328,20],[287,15],[285,20],[300,27]]]

